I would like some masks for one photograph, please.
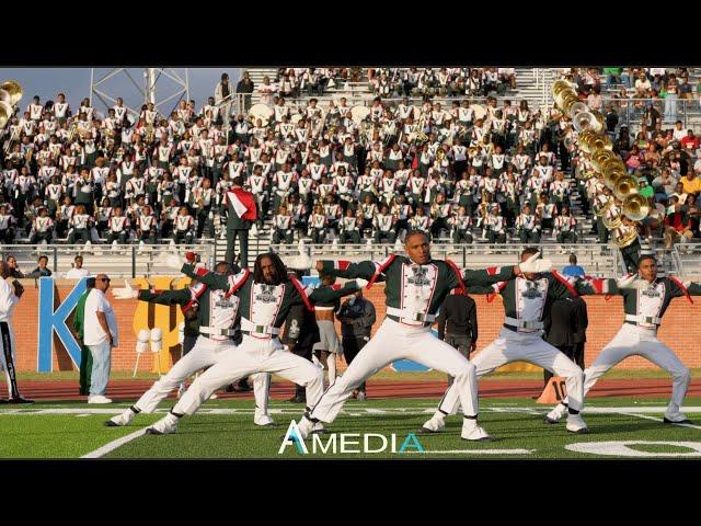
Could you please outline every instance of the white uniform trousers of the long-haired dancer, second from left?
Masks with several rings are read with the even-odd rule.
[[[310,405],[319,400],[323,391],[323,371],[311,362],[285,351],[277,338],[262,340],[245,335],[241,345],[229,346],[215,365],[193,381],[172,412],[194,414],[217,389],[256,373],[275,373],[286,380],[306,386]]]

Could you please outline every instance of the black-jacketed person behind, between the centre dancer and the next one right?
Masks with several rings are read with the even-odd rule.
[[[466,358],[478,346],[478,308],[466,294],[451,294],[438,313],[438,339],[456,347]],[[448,385],[452,377],[448,377]]]

